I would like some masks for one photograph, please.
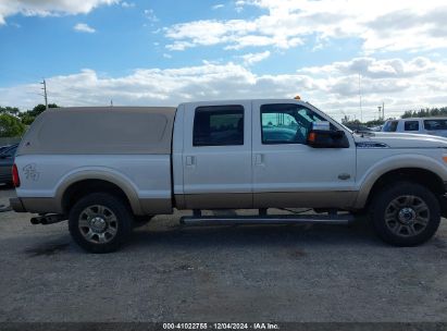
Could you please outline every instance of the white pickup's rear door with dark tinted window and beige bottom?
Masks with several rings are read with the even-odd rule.
[[[251,102],[187,103],[184,127],[186,208],[251,208]]]

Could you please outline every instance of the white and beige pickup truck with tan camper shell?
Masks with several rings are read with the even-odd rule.
[[[369,212],[385,242],[431,238],[445,214],[447,139],[356,133],[301,100],[45,111],[13,167],[18,212],[69,219],[83,248],[115,250],[135,223],[189,209],[185,224],[344,223]],[[313,208],[271,214],[269,208]],[[202,210],[253,209],[253,216]]]

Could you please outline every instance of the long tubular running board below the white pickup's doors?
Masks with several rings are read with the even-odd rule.
[[[181,224],[198,225],[260,225],[260,224],[349,224],[355,220],[351,214],[272,214],[272,216],[184,216]]]

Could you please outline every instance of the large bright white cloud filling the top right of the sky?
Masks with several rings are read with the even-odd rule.
[[[268,13],[252,20],[202,20],[165,28],[170,49],[224,45],[228,49],[333,38],[358,38],[367,52],[447,48],[445,0],[238,0]],[[253,42],[251,42],[253,41]],[[313,45],[311,45],[313,46]]]

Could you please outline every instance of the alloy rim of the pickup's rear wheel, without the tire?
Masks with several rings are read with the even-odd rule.
[[[105,206],[85,208],[78,219],[80,234],[90,243],[105,244],[116,236],[117,219]]]

